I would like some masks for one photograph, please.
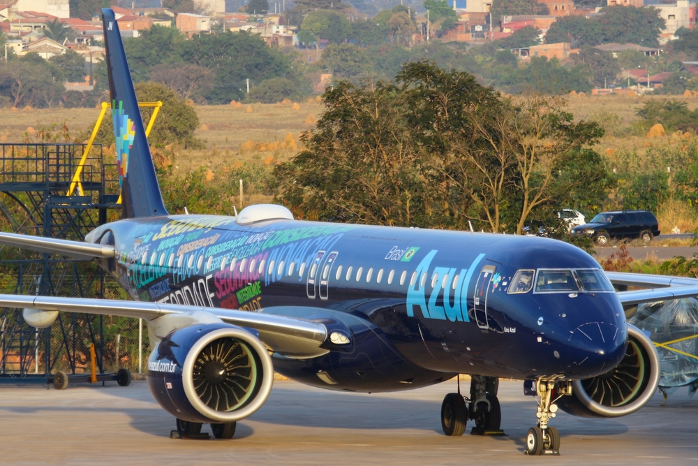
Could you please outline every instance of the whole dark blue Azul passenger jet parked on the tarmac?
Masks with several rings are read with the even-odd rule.
[[[167,212],[119,27],[102,10],[123,218],[85,242],[0,233],[0,244],[94,259],[133,301],[0,295],[37,328],[59,312],[144,319],[147,384],[180,437],[230,439],[274,371],[336,391],[399,391],[470,374],[445,395],[445,435],[500,432],[502,377],[537,402],[529,455],[556,454],[558,409],[636,412],[658,386],[637,305],[695,296],[698,280],[605,274],[548,238],[295,220],[281,205],[237,216]],[[625,287],[626,291],[614,288]],[[643,286],[627,291],[627,286]],[[366,413],[366,416],[370,416]]]

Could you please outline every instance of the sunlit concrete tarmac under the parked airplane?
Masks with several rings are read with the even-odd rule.
[[[463,384],[467,389],[468,385]],[[656,395],[622,418],[559,413],[560,456],[526,456],[535,402],[502,381],[505,437],[446,437],[443,396],[455,381],[399,393],[341,393],[275,381],[265,405],[230,440],[171,439],[174,418],[144,381],[65,391],[0,386],[3,465],[687,465],[698,463],[698,397]],[[466,432],[470,432],[472,421]],[[204,426],[203,432],[209,432]]]

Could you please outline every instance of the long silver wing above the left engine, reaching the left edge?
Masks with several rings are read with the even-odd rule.
[[[252,328],[267,347],[284,356],[309,358],[327,353],[320,347],[327,340],[327,328],[316,321],[261,312],[247,312],[217,307],[195,307],[139,301],[93,298],[62,298],[57,296],[24,296],[0,294],[1,307],[28,308],[43,311],[80,312],[134,317],[153,321],[167,314],[204,311],[225,323]]]

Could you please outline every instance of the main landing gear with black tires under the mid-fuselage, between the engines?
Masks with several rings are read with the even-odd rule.
[[[470,398],[461,395],[460,377],[458,393],[449,393],[441,404],[441,428],[445,435],[463,435],[468,419],[475,421],[470,435],[504,435],[500,430],[502,411],[497,390],[497,377],[473,375],[470,379]]]

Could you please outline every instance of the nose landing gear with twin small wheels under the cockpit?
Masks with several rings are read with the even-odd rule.
[[[537,379],[535,391],[538,397],[538,409],[535,413],[538,423],[535,427],[528,429],[526,434],[526,454],[559,455],[560,433],[556,428],[548,425],[548,421],[554,418],[558,411],[554,401],[563,395],[571,395],[572,384],[569,382],[556,384],[554,380]]]

